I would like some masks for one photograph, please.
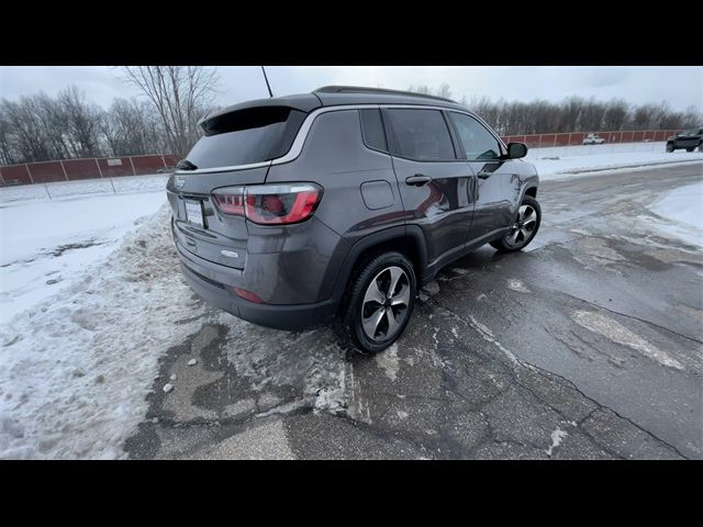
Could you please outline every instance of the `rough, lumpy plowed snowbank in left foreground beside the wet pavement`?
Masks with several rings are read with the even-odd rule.
[[[204,314],[181,278],[169,209],[41,306],[0,327],[0,459],[123,458],[158,357]]]

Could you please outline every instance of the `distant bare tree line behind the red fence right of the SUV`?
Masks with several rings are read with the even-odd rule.
[[[436,89],[426,85],[411,86],[409,91],[451,98],[446,82]],[[561,102],[521,102],[492,101],[488,97],[467,99],[465,96],[459,102],[480,115],[499,135],[678,130],[698,127],[703,123],[703,114],[695,106],[677,112],[666,101],[637,105],[618,98],[598,101],[572,96]]]

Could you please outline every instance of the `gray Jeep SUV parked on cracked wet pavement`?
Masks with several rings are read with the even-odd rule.
[[[324,87],[201,126],[167,186],[174,239],[191,288],[255,324],[380,351],[440,268],[539,228],[527,147],[447,99]]]

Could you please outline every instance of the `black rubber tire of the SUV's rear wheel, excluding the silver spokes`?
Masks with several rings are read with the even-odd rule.
[[[390,289],[390,282],[392,280],[391,269],[400,268],[404,272],[404,278],[401,276],[397,280],[394,291],[397,296],[391,292],[390,298],[400,296],[400,291],[404,291],[404,287],[409,288],[410,295],[408,298],[408,304],[404,310],[402,304],[392,306],[383,305],[373,300],[365,303],[365,299],[371,291],[371,282],[375,281],[377,290]],[[406,281],[405,281],[406,280]],[[388,287],[386,288],[386,284]],[[382,291],[383,292],[383,291]],[[387,291],[384,291],[387,293]],[[405,326],[413,314],[413,307],[415,305],[415,296],[417,294],[417,282],[415,279],[415,270],[412,262],[398,251],[388,251],[378,254],[370,259],[364,261],[359,268],[353,273],[347,290],[339,309],[339,315],[335,329],[339,337],[341,344],[344,347],[354,347],[364,355],[372,355],[382,351],[393,344],[405,330]],[[387,296],[388,299],[389,296]],[[387,300],[387,302],[390,302]],[[393,332],[391,332],[391,325],[387,312],[382,314],[380,323],[376,323],[375,337],[369,337],[367,330],[365,330],[364,319],[373,319],[373,315],[381,310],[390,309],[393,313],[393,321],[399,321],[402,315],[402,319],[397,322]],[[365,314],[368,316],[365,318]],[[367,328],[369,326],[367,325]],[[383,335],[383,329],[386,334]]]

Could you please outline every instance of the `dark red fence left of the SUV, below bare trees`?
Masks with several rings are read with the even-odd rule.
[[[143,176],[155,173],[159,168],[172,167],[176,162],[178,162],[176,156],[169,154],[25,162],[0,167],[0,182],[26,184]]]

